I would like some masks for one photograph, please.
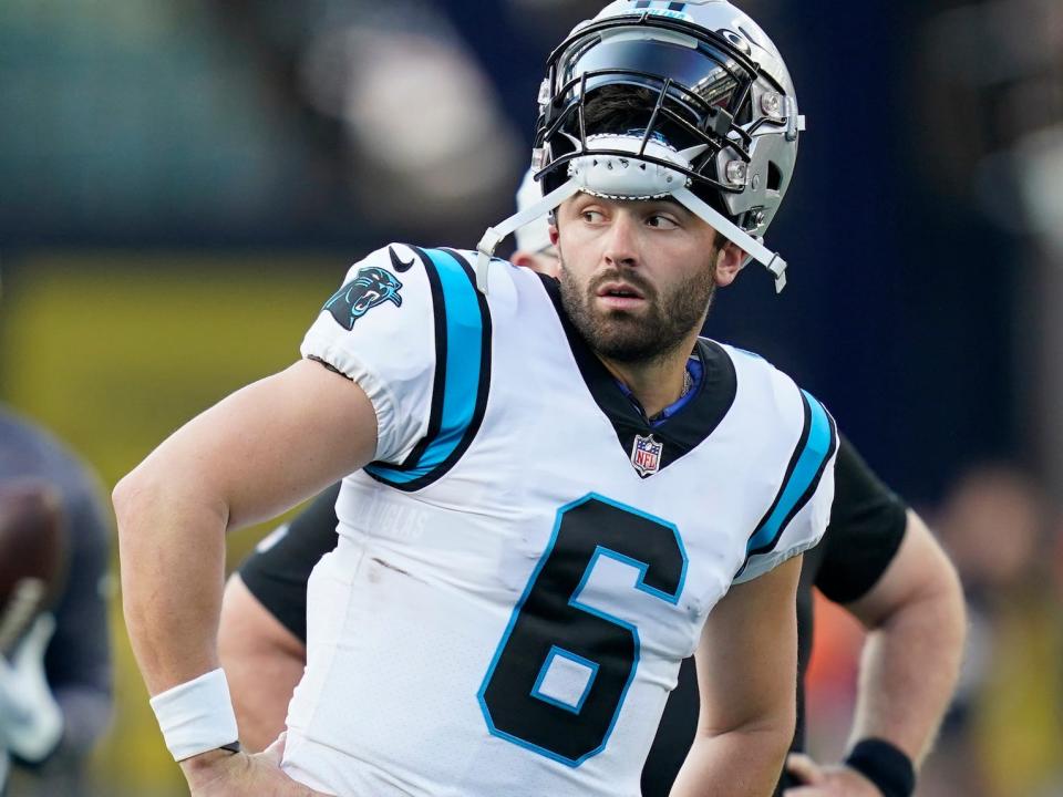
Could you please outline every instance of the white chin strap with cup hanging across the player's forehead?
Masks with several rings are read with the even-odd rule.
[[[577,142],[578,143],[578,142]],[[520,210],[496,227],[488,227],[477,245],[476,287],[487,292],[487,271],[495,248],[509,234],[546,214],[579,192],[607,199],[660,199],[671,196],[680,205],[701,218],[725,238],[737,245],[750,259],[763,263],[775,277],[775,292],[786,287],[786,261],[764,246],[719,210],[700,199],[690,190],[682,172],[669,168],[660,162],[690,168],[690,163],[703,153],[704,146],[682,152],[667,144],[636,134],[596,135],[587,138],[587,153],[568,164],[569,180],[550,192],[541,200]],[[611,153],[611,154],[605,154]],[[622,153],[618,155],[616,153]],[[641,159],[644,153],[658,163]]]

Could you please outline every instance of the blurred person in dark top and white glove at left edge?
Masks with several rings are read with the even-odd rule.
[[[52,611],[0,661],[0,755],[11,797],[85,794],[85,762],[111,718],[106,572],[111,526],[96,477],[59,441],[0,405],[0,482],[40,479],[60,496],[68,572]],[[0,762],[2,764],[2,762]]]

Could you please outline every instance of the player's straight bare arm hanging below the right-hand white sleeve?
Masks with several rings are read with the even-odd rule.
[[[672,797],[767,797],[794,735],[801,557],[736,584],[696,651],[698,735]]]

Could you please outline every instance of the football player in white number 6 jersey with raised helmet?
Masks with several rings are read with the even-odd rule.
[[[695,651],[672,794],[774,788],[837,435],[699,332],[747,258],[784,284],[758,236],[793,86],[729,3],[623,0],[555,51],[541,108],[540,203],[475,253],[357,263],[302,361],[115,488],[126,622],[193,794],[634,795]],[[545,213],[560,280],[492,259]],[[217,666],[224,534],[339,477],[277,768],[237,749]]]

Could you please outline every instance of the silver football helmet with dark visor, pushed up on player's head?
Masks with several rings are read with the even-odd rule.
[[[646,118],[588,132],[588,101],[608,86],[648,95]],[[762,241],[803,130],[782,55],[743,11],[726,0],[616,0],[547,62],[533,155],[546,196],[487,230],[481,286],[502,238],[586,192],[671,196],[766,266],[781,291],[786,262]]]

